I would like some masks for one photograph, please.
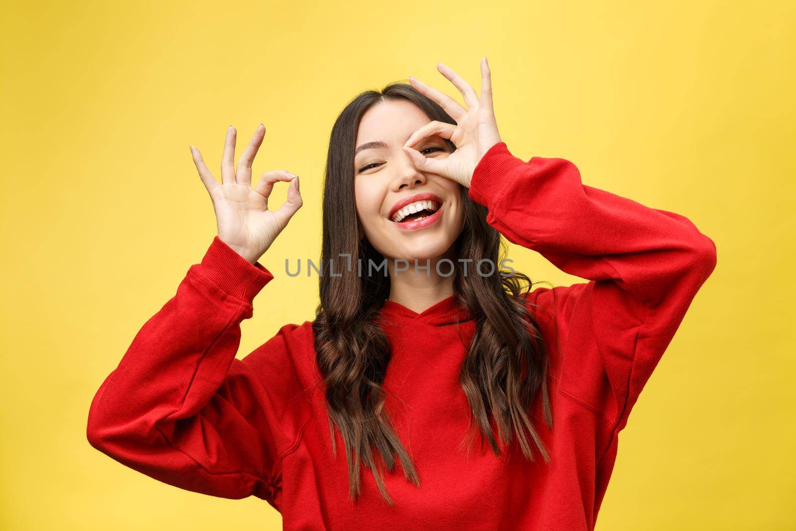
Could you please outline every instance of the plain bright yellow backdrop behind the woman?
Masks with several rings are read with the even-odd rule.
[[[17,2],[22,4],[23,2]],[[718,248],[620,436],[597,529],[794,529],[793,2],[29,2],[2,39],[2,529],[281,529],[256,498],[178,490],[85,438],[88,406],[215,235],[232,123],[256,176],[302,177],[239,357],[314,318],[322,170],[357,92],[478,83],[521,158],[689,217]],[[277,205],[286,187],[275,192]],[[579,282],[513,248],[534,280]],[[484,515],[485,518],[489,515]]]

